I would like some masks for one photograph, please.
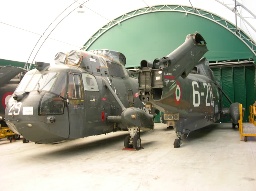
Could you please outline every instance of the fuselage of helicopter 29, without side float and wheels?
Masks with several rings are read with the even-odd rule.
[[[138,79],[129,76],[121,64],[117,66],[108,62],[102,67],[98,62],[97,66],[95,60],[99,57],[92,55],[90,72],[85,70],[87,68],[70,65],[48,66],[41,71],[33,69],[27,72],[14,93],[18,95],[17,100],[13,94],[7,103],[5,116],[8,126],[36,143],[112,132],[116,127],[106,119],[110,115],[120,115],[122,110],[104,87],[103,78],[126,108],[145,110],[145,105],[138,98]],[[115,65],[112,67],[111,64]],[[112,67],[112,71],[107,66]],[[113,74],[114,67],[120,69],[119,74]]]

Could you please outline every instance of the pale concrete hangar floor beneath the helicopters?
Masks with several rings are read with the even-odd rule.
[[[59,144],[0,141],[0,190],[256,190],[256,138],[231,123],[189,134],[174,148],[165,124],[142,132],[144,149],[122,151],[127,132]]]

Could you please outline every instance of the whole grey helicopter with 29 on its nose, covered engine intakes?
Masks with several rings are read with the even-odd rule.
[[[140,130],[154,130],[154,115],[139,100],[124,54],[72,50],[54,60],[24,75],[6,104],[8,127],[38,144],[127,129],[125,148],[139,150]]]

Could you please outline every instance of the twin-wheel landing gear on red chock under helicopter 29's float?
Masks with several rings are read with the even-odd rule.
[[[139,130],[139,136],[137,136]],[[128,132],[130,135],[125,137],[124,139],[124,148],[125,149],[136,149],[139,150],[141,148],[141,139],[140,139],[140,128],[139,127],[132,127],[128,128]]]

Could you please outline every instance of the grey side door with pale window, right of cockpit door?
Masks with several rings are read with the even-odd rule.
[[[82,73],[83,88],[85,89],[86,122],[98,122],[101,119],[99,88],[94,76]]]

